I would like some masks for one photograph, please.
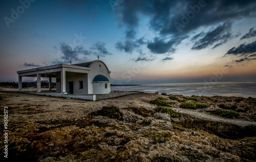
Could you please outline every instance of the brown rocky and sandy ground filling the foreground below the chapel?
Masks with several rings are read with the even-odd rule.
[[[174,103],[173,109],[180,111],[178,118],[156,113],[150,101],[159,96]],[[256,99],[194,98],[208,107],[184,109],[180,102],[156,94],[86,101],[2,89],[1,107],[9,110],[8,160],[255,161]],[[95,115],[103,106],[120,108],[123,120]],[[214,114],[230,108],[239,117]],[[3,140],[1,135],[2,144]]]

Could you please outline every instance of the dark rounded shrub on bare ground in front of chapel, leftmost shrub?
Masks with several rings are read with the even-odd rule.
[[[123,113],[115,106],[104,106],[99,110],[99,114],[111,119],[121,119],[123,117]]]

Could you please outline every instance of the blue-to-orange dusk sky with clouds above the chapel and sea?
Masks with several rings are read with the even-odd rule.
[[[256,81],[255,0],[4,0],[0,17],[1,82],[98,55],[113,84]]]

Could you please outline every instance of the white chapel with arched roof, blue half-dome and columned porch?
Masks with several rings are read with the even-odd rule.
[[[22,92],[22,77],[36,77],[37,95],[96,100],[96,95],[110,93],[111,72],[103,61],[71,62],[17,71],[18,91]],[[49,90],[41,91],[41,77],[49,78]],[[56,79],[56,90],[52,89],[52,78]]]

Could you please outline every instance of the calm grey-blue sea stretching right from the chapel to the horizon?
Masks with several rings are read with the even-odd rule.
[[[171,83],[171,84],[143,84],[137,86],[112,86],[111,90],[144,91],[159,94],[183,96],[234,96],[256,98],[256,82],[217,82],[217,83]]]

